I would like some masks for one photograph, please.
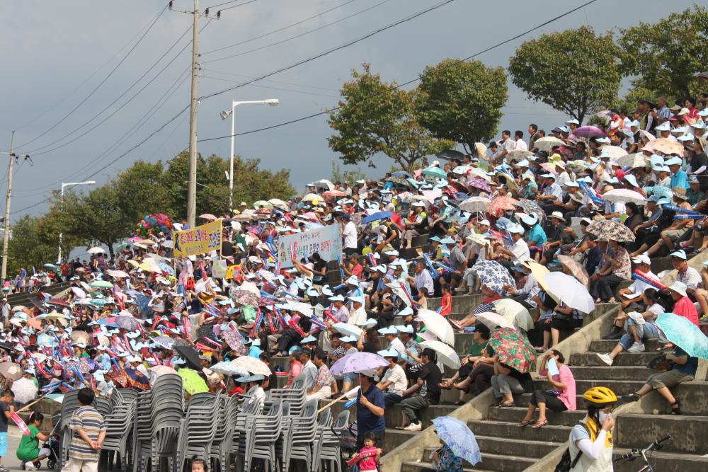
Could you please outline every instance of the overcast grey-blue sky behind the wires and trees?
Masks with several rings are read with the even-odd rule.
[[[202,0],[200,10],[223,1]],[[240,0],[212,8],[210,13],[214,14],[218,8],[243,4],[224,9],[219,21],[200,19],[199,96],[295,64],[438,3],[440,0]],[[198,137],[230,134],[230,118],[222,121],[219,112],[229,109],[232,100],[280,100],[277,107],[239,105],[237,133],[297,120],[335,106],[338,89],[349,79],[350,69],[360,69],[362,62],[369,62],[371,70],[385,81],[403,83],[415,79],[427,65],[446,57],[472,56],[585,3],[452,1],[268,80],[202,99]],[[509,57],[524,39],[544,32],[589,24],[604,33],[640,20],[656,22],[693,3],[649,0],[638,9],[632,2],[597,0],[476,59],[487,66],[507,67]],[[42,201],[52,190],[59,190],[62,182],[96,180],[100,184],[136,159],[164,162],[188,147],[188,112],[169,120],[189,105],[192,16],[169,10],[160,14],[165,5],[159,0],[4,4],[0,148],[9,150],[11,130],[16,129],[16,152],[30,154],[34,164],[15,167],[12,220],[25,212],[46,211]],[[174,8],[192,10],[193,1],[176,0]],[[312,16],[316,18],[307,20]],[[298,22],[302,23],[287,28]],[[281,28],[287,29],[254,39]],[[294,38],[297,35],[302,36]],[[273,45],[276,42],[280,44]],[[231,45],[235,46],[228,47]],[[263,49],[253,51],[258,48]],[[547,105],[526,100],[512,84],[509,92],[500,133],[502,129],[526,132],[531,122],[548,130],[566,119]],[[338,160],[327,146],[330,134],[322,115],[236,137],[235,151],[245,158],[262,159],[261,168],[292,169],[292,182],[302,190],[309,181],[330,178],[331,161]],[[229,146],[228,138],[218,139],[198,144],[198,151],[225,157]],[[0,188],[7,185],[6,163],[5,159],[0,166],[0,176],[4,175]],[[382,156],[377,159],[377,169],[365,171],[370,176],[382,175],[391,164]],[[5,201],[1,200],[4,214]]]

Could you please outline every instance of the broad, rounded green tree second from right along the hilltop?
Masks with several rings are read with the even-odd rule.
[[[611,33],[598,36],[593,28],[581,26],[524,42],[509,60],[509,74],[528,98],[582,124],[586,115],[616,100],[621,53]]]

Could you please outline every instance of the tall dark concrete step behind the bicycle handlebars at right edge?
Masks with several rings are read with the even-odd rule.
[[[661,451],[708,454],[706,416],[619,415],[615,431],[617,447],[644,449],[657,438],[671,433],[672,439]]]

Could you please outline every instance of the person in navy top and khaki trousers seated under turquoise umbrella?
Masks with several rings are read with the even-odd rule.
[[[650,375],[649,379],[646,380],[646,384],[638,392],[623,395],[622,400],[625,402],[638,401],[639,398],[650,391],[656,390],[668,401],[671,407],[671,414],[680,415],[681,410],[678,398],[673,396],[669,388],[695,379],[696,370],[698,369],[698,357],[691,357],[683,349],[676,347],[673,352],[666,355],[666,360],[674,363],[670,370],[662,369],[658,374]]]

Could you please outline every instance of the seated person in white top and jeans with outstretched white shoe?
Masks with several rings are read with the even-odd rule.
[[[610,354],[600,354],[598,357],[607,365],[612,365],[615,362],[615,357],[622,352],[644,352],[646,348],[641,341],[646,339],[663,338],[661,328],[656,323],[656,317],[666,311],[664,302],[659,300],[656,289],[646,289],[642,294],[642,301],[647,307],[646,311],[630,311],[624,313],[624,310],[619,309],[619,316],[615,318],[615,323],[622,323],[627,334],[620,338],[619,343]],[[616,325],[615,325],[616,326]],[[666,340],[666,338],[663,338]]]

